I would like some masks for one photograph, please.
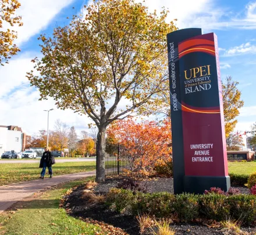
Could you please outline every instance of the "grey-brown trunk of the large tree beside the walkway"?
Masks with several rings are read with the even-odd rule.
[[[105,182],[105,146],[106,146],[106,128],[99,129],[99,133],[97,135],[98,141],[98,150],[97,150],[97,168],[96,168],[96,182],[101,183]]]

